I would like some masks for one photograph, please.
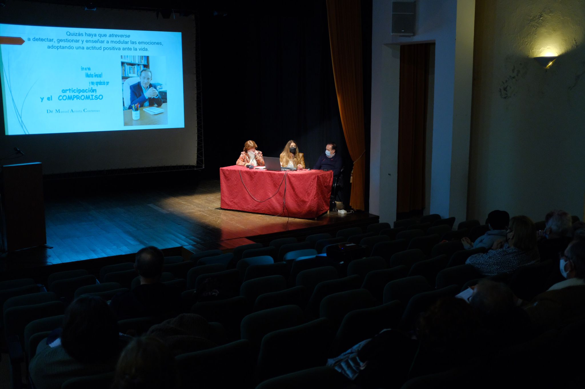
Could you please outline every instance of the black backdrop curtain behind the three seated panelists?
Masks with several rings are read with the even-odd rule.
[[[219,167],[235,164],[249,139],[265,157],[278,157],[293,139],[309,168],[334,141],[348,190],[352,161],[335,94],[325,2],[287,12],[244,6],[201,18],[206,175],[219,176]],[[345,203],[347,197],[344,192]]]

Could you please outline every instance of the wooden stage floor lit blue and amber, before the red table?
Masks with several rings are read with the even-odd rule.
[[[378,217],[357,212],[325,214],[316,220],[222,210],[219,180],[202,180],[169,189],[122,190],[69,194],[46,199],[47,245],[7,253],[0,258],[0,279],[25,276],[47,265],[60,271],[83,268],[109,258],[120,262],[140,248],[154,245],[166,255],[188,255],[207,249],[230,249],[251,242],[377,223]],[[188,251],[187,251],[188,250]],[[185,253],[186,252],[186,253]],[[99,262],[101,266],[108,261]]]

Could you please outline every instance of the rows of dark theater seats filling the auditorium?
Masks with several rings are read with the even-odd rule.
[[[463,264],[480,250],[463,251],[459,239],[439,242],[449,231],[439,236],[435,227],[445,225],[450,230],[454,221],[436,220],[435,226],[426,225],[426,231],[420,225],[408,229],[396,226],[399,222],[394,228],[377,223],[366,231],[340,230],[336,237],[311,235],[303,242],[276,239],[267,247],[252,244],[231,253],[195,253],[190,261],[166,258],[161,281],[184,290],[184,311],[211,322],[213,340],[221,345],[178,356],[182,381],[201,387],[260,384],[263,388],[291,387],[274,378],[283,374],[297,378],[307,374],[316,381],[316,376],[333,376],[343,381],[335,371],[319,366],[381,329],[414,329],[419,312],[439,297],[455,296],[481,277],[472,266]],[[479,225],[477,221],[464,223]],[[410,235],[412,231],[417,235]],[[366,246],[370,256],[340,265],[324,255],[329,245],[341,242]],[[372,256],[374,253],[379,255]],[[511,284],[520,291],[519,296],[542,291],[551,265],[527,266],[512,275]],[[498,277],[508,279],[504,275],[494,278]],[[209,279],[221,286],[221,299],[199,301],[198,288]],[[104,266],[99,280],[85,270],[72,270],[50,275],[44,287],[33,280],[0,283],[13,377],[20,377],[20,363],[29,361],[36,345],[60,326],[66,304],[75,297],[92,294],[109,300],[137,284],[133,263]],[[153,318],[119,322],[122,332],[132,329],[138,334],[153,324]],[[223,374],[226,369],[233,374]],[[295,379],[288,377],[287,381]],[[99,379],[86,381],[77,380],[79,386],[71,387],[88,389],[88,382]]]

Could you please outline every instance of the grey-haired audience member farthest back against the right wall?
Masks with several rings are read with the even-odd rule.
[[[545,216],[546,228],[538,231],[538,252],[541,261],[557,260],[571,241],[572,220],[565,211],[550,211]]]

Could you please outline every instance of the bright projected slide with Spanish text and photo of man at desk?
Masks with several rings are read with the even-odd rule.
[[[7,135],[182,128],[181,33],[0,24]]]

